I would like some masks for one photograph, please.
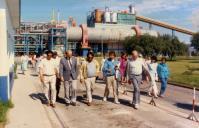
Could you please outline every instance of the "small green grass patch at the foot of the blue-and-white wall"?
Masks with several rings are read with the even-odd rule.
[[[6,115],[9,108],[12,108],[13,104],[11,101],[3,103],[0,101],[0,128],[3,128],[3,124],[6,122]]]

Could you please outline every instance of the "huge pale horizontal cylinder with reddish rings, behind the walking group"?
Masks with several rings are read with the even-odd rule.
[[[158,36],[156,31],[141,30],[141,34],[149,34]],[[100,42],[111,41],[118,42],[124,41],[127,37],[136,35],[134,29],[118,29],[118,28],[88,28],[88,40]],[[69,42],[82,41],[82,29],[80,27],[70,27],[67,29],[67,37]]]

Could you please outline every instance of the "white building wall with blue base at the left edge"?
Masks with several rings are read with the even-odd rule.
[[[0,77],[7,77],[7,83],[0,79],[0,93],[5,93],[10,98],[10,77],[14,67],[14,29],[11,23],[6,0],[0,0]],[[6,85],[4,85],[6,84]],[[6,88],[5,88],[6,87]],[[0,97],[1,98],[1,97]]]

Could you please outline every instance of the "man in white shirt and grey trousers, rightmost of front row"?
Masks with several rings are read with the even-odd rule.
[[[138,109],[140,104],[140,84],[142,81],[143,61],[138,57],[137,51],[132,51],[132,59],[128,62],[126,76],[129,78],[129,84],[133,84],[133,105]]]

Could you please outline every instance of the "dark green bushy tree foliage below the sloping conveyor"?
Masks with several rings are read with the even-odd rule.
[[[142,35],[140,37],[127,38],[124,47],[128,53],[137,50],[144,56],[164,55],[171,59],[176,55],[184,55],[187,53],[187,46],[180,42],[177,37],[170,35],[161,35],[158,37],[150,35]]]

